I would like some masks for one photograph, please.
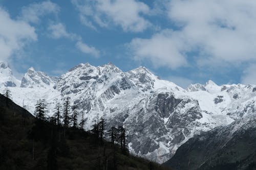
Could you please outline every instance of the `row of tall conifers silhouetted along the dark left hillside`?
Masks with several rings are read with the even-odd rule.
[[[81,120],[78,123],[79,112],[76,106],[71,107],[70,101],[67,98],[62,104],[57,103],[55,107],[55,112],[52,116],[47,116],[49,112],[47,108],[47,103],[45,100],[39,99],[35,105],[35,117],[40,121],[47,121],[57,127],[63,127],[65,137],[65,132],[67,128],[84,130],[85,120],[84,112],[82,111]],[[122,126],[111,127],[111,129],[106,130],[106,120],[101,117],[100,119],[96,116],[94,125],[91,127],[92,130],[88,131],[95,136],[95,142],[103,144],[103,139],[107,138],[111,140],[112,144],[118,144],[122,149],[123,153],[129,152],[126,145],[126,130]],[[59,129],[59,128],[58,128]]]

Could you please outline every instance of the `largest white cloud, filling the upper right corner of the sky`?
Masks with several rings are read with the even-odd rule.
[[[174,0],[169,17],[183,25],[180,32],[203,56],[247,61],[256,54],[255,8],[256,2],[250,0]]]

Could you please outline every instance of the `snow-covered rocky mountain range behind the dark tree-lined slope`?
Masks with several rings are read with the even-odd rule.
[[[0,86],[3,91],[5,85]],[[31,88],[32,87],[32,88]],[[160,80],[145,67],[123,72],[112,63],[89,63],[52,78],[30,68],[22,85],[9,88],[13,101],[33,113],[38,99],[49,102],[49,114],[67,98],[86,113],[86,128],[104,116],[106,128],[124,126],[129,149],[159,163],[172,157],[194,135],[254,113],[256,86],[212,81],[186,90]]]

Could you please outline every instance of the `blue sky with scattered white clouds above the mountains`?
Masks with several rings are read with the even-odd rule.
[[[183,88],[256,84],[256,1],[0,0],[0,61],[17,77],[112,62]]]

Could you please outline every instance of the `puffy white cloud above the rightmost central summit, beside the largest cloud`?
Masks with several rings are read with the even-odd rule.
[[[181,36],[181,35],[179,35]],[[164,30],[150,39],[135,38],[129,44],[135,60],[150,60],[155,66],[177,68],[187,65],[186,57],[182,54],[185,43],[172,30]]]

